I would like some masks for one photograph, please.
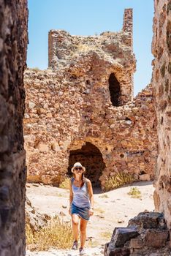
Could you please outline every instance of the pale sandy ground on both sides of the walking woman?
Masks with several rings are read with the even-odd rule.
[[[131,187],[140,189],[142,197],[132,198],[128,195]],[[153,211],[153,184],[152,182],[134,183],[131,186],[121,187],[110,192],[101,192],[94,189],[94,216],[88,222],[87,237],[92,246],[99,246],[97,255],[101,255],[102,246],[110,237],[115,227],[126,227],[129,219],[135,217],[141,211]],[[42,214],[50,216],[59,215],[61,219],[70,221],[68,213],[69,191],[57,187],[43,186],[38,184],[27,184],[26,194],[32,205]],[[61,251],[61,253],[63,253]],[[91,255],[96,255],[96,252]],[[29,254],[32,255],[32,254]],[[42,255],[44,254],[35,254]],[[69,255],[56,254],[50,255]],[[70,254],[74,255],[74,254]]]

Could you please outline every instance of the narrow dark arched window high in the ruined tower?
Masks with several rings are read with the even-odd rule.
[[[109,78],[110,100],[113,106],[121,106],[121,86],[115,75],[110,74]]]

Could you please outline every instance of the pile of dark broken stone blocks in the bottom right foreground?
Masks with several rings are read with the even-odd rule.
[[[130,219],[127,227],[115,227],[104,256],[169,256],[169,241],[163,214],[144,212]]]

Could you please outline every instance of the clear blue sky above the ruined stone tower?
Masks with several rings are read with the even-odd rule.
[[[136,95],[151,81],[153,0],[28,0],[28,67],[47,68],[50,29],[64,29],[75,35],[120,31],[124,9],[129,7],[134,10]]]

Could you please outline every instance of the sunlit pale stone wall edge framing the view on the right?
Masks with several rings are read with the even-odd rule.
[[[158,119],[159,157],[154,203],[171,229],[171,1],[154,1],[153,89]]]

